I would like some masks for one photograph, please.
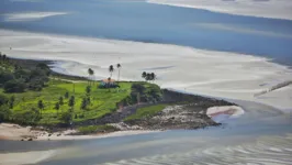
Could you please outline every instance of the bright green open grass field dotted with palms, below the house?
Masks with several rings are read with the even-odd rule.
[[[54,124],[61,122],[59,120],[60,113],[68,111],[68,100],[65,99],[66,91],[70,96],[75,96],[75,107],[74,107],[74,122],[85,121],[89,119],[97,119],[106,113],[111,113],[116,110],[116,103],[126,98],[131,92],[132,82],[120,82],[119,89],[99,89],[97,88],[99,84],[96,82],[91,86],[90,100],[91,103],[86,110],[81,110],[82,98],[86,97],[87,81],[81,82],[68,82],[60,80],[50,80],[48,87],[45,87],[42,91],[25,91],[22,94],[4,94],[0,89],[0,94],[11,97],[15,97],[13,113],[23,113],[25,111],[31,111],[33,108],[37,109],[38,100],[43,100],[44,110],[42,110],[42,120],[40,124]],[[75,90],[74,90],[75,86]],[[122,91],[121,91],[122,90]],[[57,111],[54,109],[55,103],[58,102],[59,97],[64,98],[64,105]],[[75,118],[77,116],[77,118]],[[80,118],[80,116],[83,116]]]

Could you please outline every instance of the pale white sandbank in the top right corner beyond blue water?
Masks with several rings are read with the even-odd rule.
[[[292,20],[291,0],[146,0],[149,3],[204,9],[237,15]]]

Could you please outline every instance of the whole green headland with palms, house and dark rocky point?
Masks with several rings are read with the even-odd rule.
[[[68,76],[53,72],[49,65],[54,63],[0,54],[0,123],[30,125],[55,132],[55,136],[68,129],[74,130],[69,135],[200,129],[220,125],[206,116],[207,108],[234,106],[224,100],[160,89],[154,73],[143,72],[145,81],[122,81],[121,64],[109,66],[109,78],[94,80],[91,68],[87,77]],[[20,138],[31,141],[42,139],[42,134],[27,132]]]

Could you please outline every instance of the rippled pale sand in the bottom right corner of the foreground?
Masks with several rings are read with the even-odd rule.
[[[260,138],[255,143],[243,145],[209,147],[206,150],[193,150],[186,153],[122,160],[115,163],[105,163],[104,165],[291,165],[291,155],[292,134],[287,134],[285,136],[265,136]]]

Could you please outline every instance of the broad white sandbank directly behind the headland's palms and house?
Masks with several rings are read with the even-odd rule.
[[[263,57],[7,30],[0,30],[0,37],[2,53],[16,58],[61,61],[54,69],[65,74],[87,76],[87,69],[91,67],[96,78],[101,79],[109,77],[109,65],[121,63],[123,80],[143,80],[142,72],[154,72],[158,76],[155,82],[162,88],[292,109],[291,85],[255,96],[292,79],[291,69]],[[115,76],[117,72],[113,74]]]

